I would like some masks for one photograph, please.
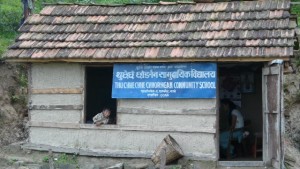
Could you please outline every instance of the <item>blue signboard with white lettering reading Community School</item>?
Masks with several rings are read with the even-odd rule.
[[[216,98],[215,63],[115,64],[113,98]]]

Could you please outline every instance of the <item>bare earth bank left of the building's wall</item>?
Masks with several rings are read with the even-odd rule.
[[[0,62],[0,146],[27,138],[26,90],[20,88],[21,68]]]

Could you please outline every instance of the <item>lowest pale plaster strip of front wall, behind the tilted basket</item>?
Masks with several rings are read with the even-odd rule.
[[[51,146],[115,152],[118,155],[142,153],[148,157],[151,157],[163,138],[170,134],[185,156],[211,160],[216,156],[214,135],[207,133],[38,127],[32,127],[30,133],[30,141],[35,144],[45,144],[46,140],[47,145]]]

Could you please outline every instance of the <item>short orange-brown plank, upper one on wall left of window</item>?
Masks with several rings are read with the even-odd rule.
[[[31,89],[32,94],[81,94],[82,88]]]

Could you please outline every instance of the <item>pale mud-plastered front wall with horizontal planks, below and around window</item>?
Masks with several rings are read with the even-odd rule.
[[[84,88],[80,64],[33,64],[31,88]],[[31,94],[32,105],[84,104],[84,94]],[[215,99],[122,99],[117,125],[80,123],[84,110],[31,110],[30,143],[150,157],[167,134],[186,156],[216,160]]]

